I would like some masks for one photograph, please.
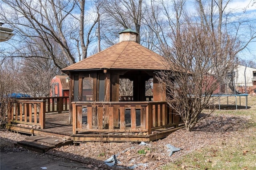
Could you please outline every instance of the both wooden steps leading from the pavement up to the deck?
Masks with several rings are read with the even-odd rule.
[[[17,142],[18,147],[23,147],[36,152],[44,153],[49,149],[70,145],[73,140],[70,137],[57,138],[42,135],[26,137],[24,141]]]

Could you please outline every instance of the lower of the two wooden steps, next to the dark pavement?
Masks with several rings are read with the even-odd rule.
[[[55,148],[54,145],[49,145],[46,143],[40,143],[36,141],[28,141],[28,140],[17,142],[17,146],[23,147],[29,150],[33,150],[35,152],[40,152],[40,153],[44,153],[49,149]]]

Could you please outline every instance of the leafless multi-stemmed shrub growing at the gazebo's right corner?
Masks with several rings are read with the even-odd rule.
[[[165,53],[171,71],[160,72],[158,79],[166,86],[168,105],[180,114],[186,130],[192,131],[213,111],[209,109],[211,95],[232,70],[239,46],[227,33],[217,40],[204,26],[188,24],[180,28],[182,31],[170,34],[173,44]],[[207,108],[207,113],[199,117]]]

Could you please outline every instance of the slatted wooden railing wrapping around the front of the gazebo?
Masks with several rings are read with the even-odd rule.
[[[73,134],[145,132],[178,127],[180,116],[166,102],[72,102]]]

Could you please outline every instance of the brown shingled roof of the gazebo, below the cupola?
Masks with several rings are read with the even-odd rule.
[[[122,41],[64,69],[78,70],[166,70],[164,57],[134,41]]]

